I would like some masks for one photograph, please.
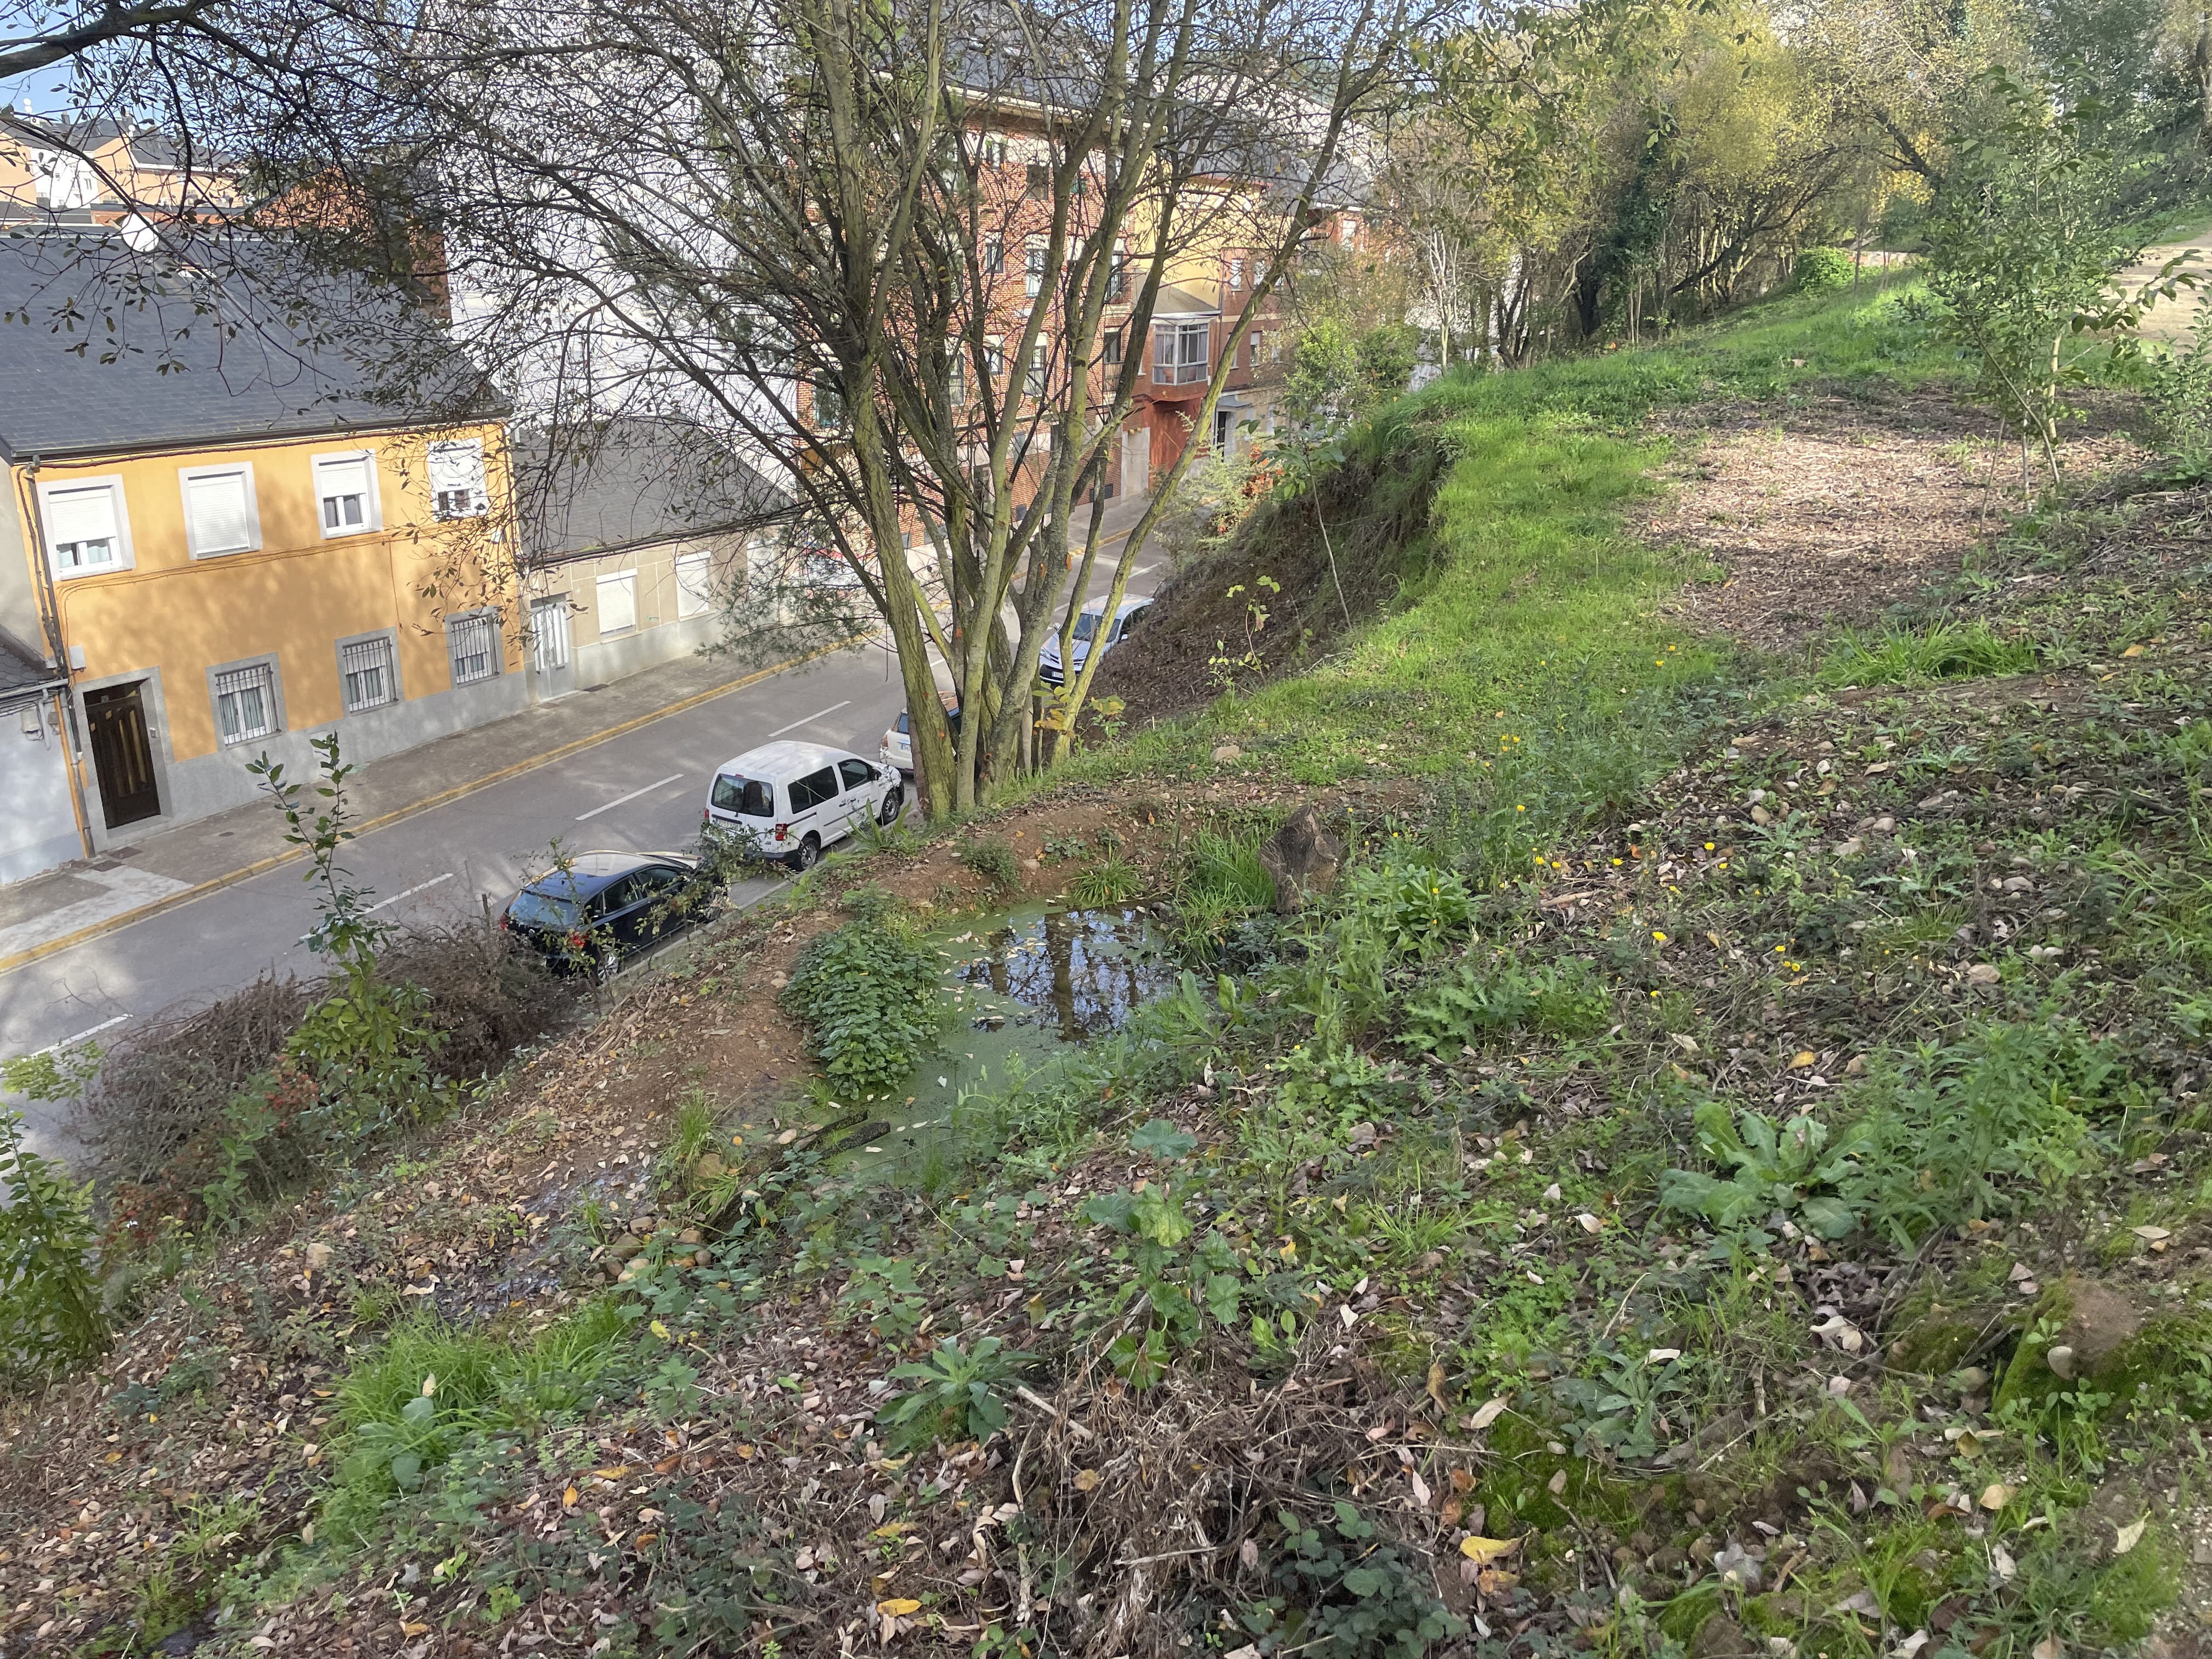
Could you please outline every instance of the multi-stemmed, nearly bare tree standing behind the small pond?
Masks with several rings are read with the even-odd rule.
[[[279,88],[290,124],[221,77],[197,115],[254,142],[263,223],[442,296],[553,453],[650,418],[785,484],[801,529],[732,644],[885,628],[925,803],[962,812],[1029,748],[1042,644],[1108,557],[1164,296],[1250,274],[1203,361],[1172,361],[1203,374],[1203,434],[1429,22],[1405,0],[456,0],[303,42],[343,69]],[[1201,449],[1161,469],[1110,602]]]

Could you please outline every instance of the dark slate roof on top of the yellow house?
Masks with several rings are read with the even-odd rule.
[[[119,230],[0,230],[0,458],[495,418],[425,312],[279,246],[190,265]]]

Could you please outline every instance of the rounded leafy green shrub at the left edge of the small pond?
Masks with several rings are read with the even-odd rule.
[[[847,922],[807,945],[781,1000],[807,1024],[807,1048],[832,1084],[880,1093],[936,1040],[938,962],[907,922]]]

